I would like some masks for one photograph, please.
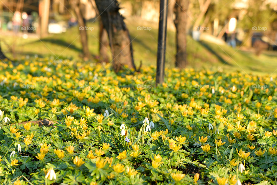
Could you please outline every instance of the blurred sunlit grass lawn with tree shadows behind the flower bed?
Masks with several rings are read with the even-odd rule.
[[[150,31],[137,30],[141,25],[136,21],[127,20],[126,24],[132,37],[134,48],[134,60],[137,65],[140,61],[144,65],[156,65],[157,25],[153,25]],[[98,23],[89,23],[93,27],[88,31],[89,50],[93,56],[98,55]],[[66,33],[49,35],[46,38],[16,38],[14,36],[1,36],[9,46],[16,51],[16,57],[20,58],[25,55],[39,55],[41,57],[53,56],[54,58],[71,58],[80,60],[82,51],[78,27],[68,29]],[[12,45],[14,43],[14,45]],[[8,46],[1,42],[3,51]],[[209,42],[194,41],[191,36],[187,39],[187,51],[189,66],[196,69],[211,69],[214,71],[235,71],[239,70],[244,73],[267,73],[272,74],[277,69],[277,52],[266,51],[257,57],[251,52],[241,51],[239,47],[233,49],[227,45],[217,45]],[[166,46],[166,67],[171,68],[175,62],[175,33],[171,30],[167,34]],[[8,57],[12,57],[10,51]]]

